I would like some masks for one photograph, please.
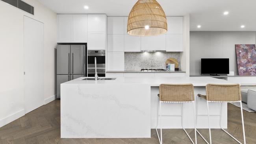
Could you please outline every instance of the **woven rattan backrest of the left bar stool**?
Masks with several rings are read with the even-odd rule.
[[[192,84],[161,84],[159,87],[160,101],[192,102],[194,87]]]

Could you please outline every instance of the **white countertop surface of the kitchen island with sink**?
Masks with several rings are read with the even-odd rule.
[[[182,83],[192,83],[194,86],[206,86],[208,83],[218,83],[218,84],[227,84],[228,81],[222,79],[216,79],[211,77],[163,77],[163,78],[154,78],[154,77],[119,77],[115,80],[83,80],[86,77],[81,77],[62,83],[61,85],[67,84],[85,84],[85,85],[108,85],[108,84],[146,84],[150,86],[159,86],[161,83],[173,83],[173,84],[182,84]]]

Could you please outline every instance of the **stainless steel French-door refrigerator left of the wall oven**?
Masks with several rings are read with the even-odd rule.
[[[57,98],[60,98],[61,83],[86,76],[85,45],[58,45],[56,65]]]

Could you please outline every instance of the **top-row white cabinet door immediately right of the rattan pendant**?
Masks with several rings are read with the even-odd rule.
[[[183,17],[166,17],[166,34],[183,34]]]

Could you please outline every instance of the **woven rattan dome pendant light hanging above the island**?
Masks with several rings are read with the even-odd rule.
[[[127,33],[136,36],[167,32],[165,12],[156,0],[138,0],[128,17]]]

